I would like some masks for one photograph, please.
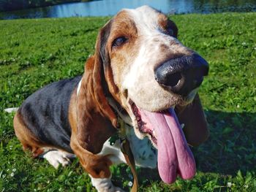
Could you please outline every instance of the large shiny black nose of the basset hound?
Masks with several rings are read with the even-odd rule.
[[[174,93],[187,96],[203,82],[203,76],[208,74],[208,63],[194,53],[165,61],[154,72],[160,85]]]

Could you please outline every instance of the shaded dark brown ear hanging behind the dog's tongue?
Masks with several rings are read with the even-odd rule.
[[[209,136],[206,118],[198,94],[187,107],[176,106],[179,123],[184,123],[184,134],[189,145],[197,146]]]

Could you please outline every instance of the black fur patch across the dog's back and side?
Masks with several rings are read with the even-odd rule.
[[[19,112],[24,123],[40,142],[72,153],[69,145],[69,101],[81,78],[79,76],[46,85],[21,105]]]

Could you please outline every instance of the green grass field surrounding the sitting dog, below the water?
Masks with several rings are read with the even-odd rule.
[[[211,137],[192,148],[193,180],[165,185],[156,170],[138,169],[140,191],[256,190],[256,13],[173,15],[178,39],[208,61],[200,88]],[[0,191],[95,191],[78,163],[54,169],[23,153],[13,114],[43,85],[83,73],[99,28],[109,18],[0,20]],[[113,181],[129,189],[127,166]]]

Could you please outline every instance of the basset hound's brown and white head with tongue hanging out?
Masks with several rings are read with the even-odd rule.
[[[151,139],[158,148],[159,173],[166,183],[172,183],[176,174],[185,179],[195,174],[187,142],[199,145],[208,137],[197,96],[208,64],[182,45],[177,34],[175,23],[151,7],[123,9],[101,29],[96,53],[86,64],[94,78],[99,112],[113,126],[118,112],[139,138]],[[184,123],[187,141],[180,123]]]

